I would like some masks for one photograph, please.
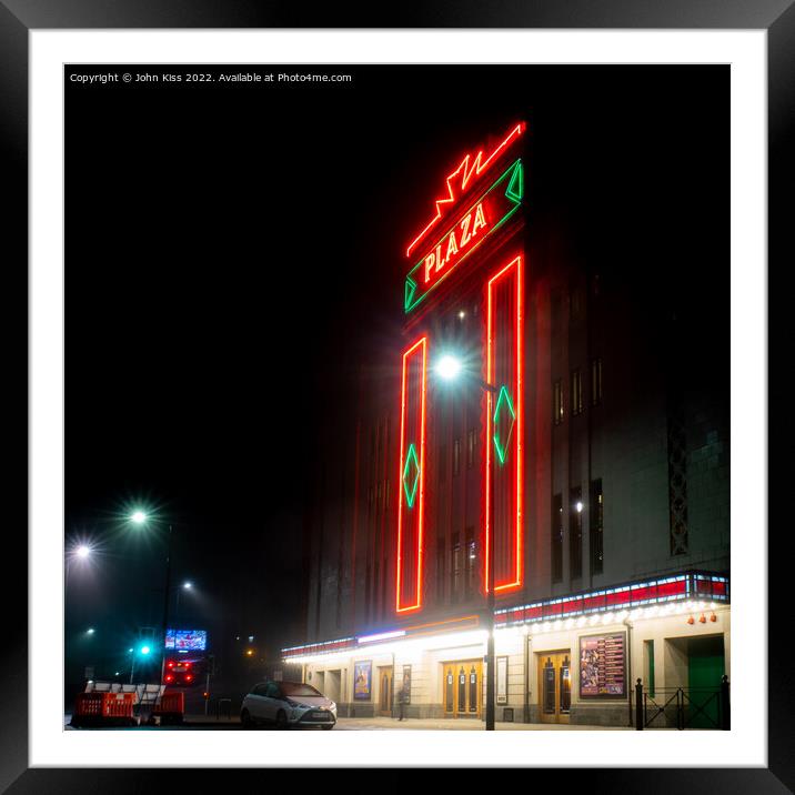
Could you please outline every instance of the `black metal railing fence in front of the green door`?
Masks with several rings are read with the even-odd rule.
[[[634,702],[634,708],[633,708]],[[631,725],[635,728],[731,728],[728,677],[715,687],[655,687],[641,680],[630,698]]]

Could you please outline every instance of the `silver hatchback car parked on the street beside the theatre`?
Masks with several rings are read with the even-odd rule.
[[[278,728],[322,726],[334,728],[336,704],[301,682],[260,682],[243,698],[240,721],[250,727],[272,723]]]

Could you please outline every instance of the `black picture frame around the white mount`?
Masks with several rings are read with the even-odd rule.
[[[362,9],[340,3],[288,3],[283,0],[182,0],[157,2],[145,0],[0,0],[0,152],[1,172],[7,200],[4,213],[6,295],[17,304],[27,305],[28,285],[28,56],[29,31],[37,29],[154,29],[154,28],[535,28],[535,29],[757,29],[767,32],[767,100],[768,100],[768,274],[778,274],[792,261],[789,228],[795,217],[795,168],[792,129],[795,124],[795,3],[793,0],[535,0],[516,3],[493,0],[456,2],[372,3]],[[9,304],[11,303],[9,301]],[[7,304],[8,306],[8,304]],[[27,313],[23,311],[23,314]],[[10,411],[14,417],[9,426],[21,426],[19,417],[28,416],[27,390],[27,316],[19,320],[3,313],[6,340],[13,340],[6,360],[7,383],[26,384],[11,392]],[[773,326],[769,331],[773,361],[789,335]],[[769,358],[771,354],[768,354]],[[786,361],[785,359],[782,361]],[[10,390],[9,390],[10,391]],[[8,394],[8,391],[7,391]],[[775,396],[775,392],[773,393]],[[769,410],[768,410],[769,411]],[[769,415],[775,416],[774,412]],[[786,414],[779,414],[779,416]],[[786,434],[774,439],[781,450]],[[20,449],[22,447],[20,441]],[[9,446],[7,446],[9,449]],[[28,485],[28,453],[12,461],[7,477],[8,493],[22,504]],[[759,462],[764,466],[766,462]],[[768,491],[786,494],[786,467],[772,469]],[[772,490],[771,490],[771,486]],[[772,506],[776,505],[774,501]],[[781,510],[781,509],[779,509]],[[27,502],[21,510],[27,525]],[[21,523],[16,523],[17,527]],[[792,533],[782,530],[768,536],[768,636],[788,626],[784,583],[785,566],[792,560]],[[755,529],[755,540],[766,529]],[[6,536],[6,560],[13,562],[17,577],[7,577],[6,604],[18,604],[26,593],[28,544],[24,533]],[[11,566],[9,566],[10,568]],[[8,572],[8,570],[7,570]],[[12,590],[11,590],[12,588]],[[11,597],[14,601],[11,601]],[[173,786],[175,777],[163,772],[131,769],[53,769],[28,767],[28,624],[23,611],[8,608],[4,622],[4,647],[0,656],[3,682],[3,715],[0,723],[0,791],[28,792],[138,792]],[[768,654],[767,700],[767,767],[765,768],[660,768],[648,769],[573,768],[567,783],[587,782],[591,792],[695,792],[782,793],[795,786],[793,742],[793,680],[787,671],[788,655]],[[668,759],[665,761],[670,763]],[[631,764],[631,759],[627,758]],[[101,762],[98,762],[101,764]],[[726,759],[727,766],[731,759]],[[179,773],[184,785],[185,772]],[[201,775],[207,778],[207,773]],[[221,775],[228,777],[229,772]],[[585,778],[587,776],[587,778]],[[207,783],[207,782],[205,782]]]

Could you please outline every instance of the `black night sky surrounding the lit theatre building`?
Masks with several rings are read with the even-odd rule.
[[[303,640],[324,429],[362,354],[400,329],[403,250],[444,177],[520,119],[531,213],[537,198],[540,218],[557,208],[583,244],[614,249],[727,362],[727,301],[704,321],[687,298],[715,280],[694,262],[724,255],[727,296],[728,240],[701,234],[728,213],[727,68],[329,71],[353,82],[67,79],[64,531],[102,552],[69,580],[78,680],[160,626],[169,522],[174,582],[195,583],[179,624],[219,651]],[[149,531],[123,521],[139,505],[158,509]]]

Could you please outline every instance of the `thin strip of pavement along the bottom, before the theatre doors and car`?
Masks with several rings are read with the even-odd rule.
[[[63,716],[63,728],[67,731],[80,731],[69,726],[71,715]],[[549,723],[497,723],[497,732],[630,732],[630,726],[581,726],[560,725]],[[185,715],[184,723],[180,726],[140,726],[133,727],[139,732],[174,732],[174,731],[229,731],[242,729],[240,718],[235,715],[231,718],[215,715]],[[455,731],[455,732],[483,732],[483,721],[473,719],[436,719],[436,718],[406,718],[399,721],[394,717],[341,717],[338,718],[335,732],[362,732],[362,731]],[[104,728],[103,731],[130,731],[129,727]],[[272,726],[258,726],[253,731],[274,731]],[[322,731],[316,727],[315,731]]]

